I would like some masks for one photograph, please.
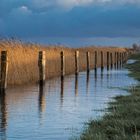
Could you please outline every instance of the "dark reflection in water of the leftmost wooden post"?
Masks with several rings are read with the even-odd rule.
[[[6,140],[7,108],[5,93],[0,93],[0,138]]]

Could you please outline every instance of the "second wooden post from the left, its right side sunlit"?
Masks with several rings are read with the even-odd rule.
[[[39,83],[43,85],[46,79],[46,53],[45,51],[39,51],[38,56],[38,66],[39,66]]]

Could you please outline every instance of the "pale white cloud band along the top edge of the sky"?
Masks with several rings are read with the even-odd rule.
[[[140,0],[32,0],[33,5],[36,8],[44,8],[49,6],[62,7],[62,8],[73,8],[78,6],[88,5],[123,5],[123,4],[140,4]]]

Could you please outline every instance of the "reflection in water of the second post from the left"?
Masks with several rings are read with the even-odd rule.
[[[39,104],[39,113],[40,118],[42,118],[42,113],[46,110],[46,99],[44,93],[44,85],[39,84],[39,97],[38,97],[38,104]]]

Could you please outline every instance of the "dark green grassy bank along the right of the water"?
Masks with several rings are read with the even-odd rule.
[[[130,75],[140,81],[140,54],[131,56],[137,60],[126,67]],[[79,139],[81,140],[140,140],[140,84],[128,96],[118,96],[111,102],[101,120],[93,120]]]

